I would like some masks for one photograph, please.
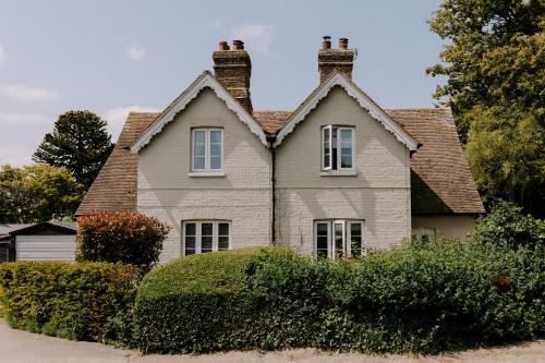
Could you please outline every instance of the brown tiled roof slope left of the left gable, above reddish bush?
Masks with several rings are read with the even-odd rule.
[[[131,112],[118,143],[90,185],[76,216],[93,210],[135,210],[138,155],[128,147],[154,122],[159,113]]]

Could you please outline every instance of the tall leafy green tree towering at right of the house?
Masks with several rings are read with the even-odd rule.
[[[449,43],[435,96],[452,108],[485,203],[545,215],[545,3],[444,0],[431,29]]]

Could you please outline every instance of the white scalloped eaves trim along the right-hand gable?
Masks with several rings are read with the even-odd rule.
[[[303,102],[295,112],[291,116],[290,121],[280,130],[277,135],[274,146],[281,144],[282,140],[289,135],[293,129],[304,120],[304,118],[318,106],[318,102],[325,98],[332,87],[341,86],[347,93],[353,97],[361,107],[363,107],[371,117],[380,122],[380,124],[391,132],[396,138],[405,145],[411,152],[419,147],[419,143],[411,137],[403,129],[401,129],[378,105],[376,105],[371,97],[363,90],[358,88],[352,82],[347,80],[342,74],[335,73],[322,86],[319,86],[314,94]]]

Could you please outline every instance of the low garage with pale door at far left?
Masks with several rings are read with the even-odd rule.
[[[74,222],[0,225],[0,262],[75,259]]]

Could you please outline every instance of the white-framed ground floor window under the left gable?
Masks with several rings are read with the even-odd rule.
[[[228,220],[187,220],[182,223],[183,255],[229,250],[231,222]]]

